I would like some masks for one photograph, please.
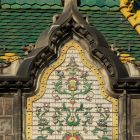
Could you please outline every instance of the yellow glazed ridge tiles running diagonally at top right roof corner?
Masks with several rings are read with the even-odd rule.
[[[140,10],[134,9],[136,1],[138,0],[120,0],[120,11],[140,34]]]

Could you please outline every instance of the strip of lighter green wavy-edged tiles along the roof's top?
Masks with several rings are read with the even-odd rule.
[[[1,0],[2,7],[11,8],[45,8],[61,6],[61,0]],[[81,6],[114,7],[119,6],[119,0],[81,0]]]

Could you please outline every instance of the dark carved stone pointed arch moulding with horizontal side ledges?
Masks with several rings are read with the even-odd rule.
[[[75,36],[87,42],[90,57],[106,69],[114,90],[140,89],[140,78],[129,78],[124,65],[111,51],[103,35],[81,16],[75,0],[68,0],[64,11],[50,30],[39,37],[36,49],[23,61],[17,75],[0,77],[0,90],[34,90],[39,73],[58,59],[63,44]]]

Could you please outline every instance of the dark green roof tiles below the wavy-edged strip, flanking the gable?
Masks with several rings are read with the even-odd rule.
[[[52,16],[61,12],[62,9],[1,9],[0,50],[4,46],[8,52],[24,56],[22,47],[35,43],[40,34],[50,27]],[[90,25],[101,31],[108,44],[115,44],[124,53],[140,60],[140,36],[119,11],[85,10],[82,7],[80,12],[89,15]]]

